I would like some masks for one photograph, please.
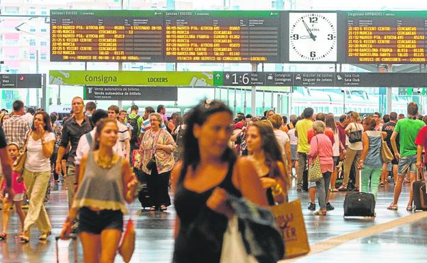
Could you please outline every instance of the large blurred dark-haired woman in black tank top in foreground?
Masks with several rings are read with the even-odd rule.
[[[253,164],[228,148],[232,120],[230,109],[216,100],[201,102],[187,116],[183,161],[172,171],[174,263],[220,261],[222,236],[233,215],[229,195],[267,205]]]

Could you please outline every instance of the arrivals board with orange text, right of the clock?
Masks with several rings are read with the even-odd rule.
[[[346,13],[346,63],[426,63],[427,12]]]

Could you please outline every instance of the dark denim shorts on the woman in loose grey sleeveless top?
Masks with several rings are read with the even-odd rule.
[[[84,206],[79,210],[79,232],[99,235],[103,230],[123,231],[123,213],[120,210],[94,211]]]

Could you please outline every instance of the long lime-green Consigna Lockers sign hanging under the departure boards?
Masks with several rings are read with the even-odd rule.
[[[53,85],[213,86],[213,72],[51,70]]]

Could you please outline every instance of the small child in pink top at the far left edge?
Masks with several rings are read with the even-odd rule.
[[[12,161],[15,161],[19,155],[18,144],[10,143],[8,145],[8,152],[9,152],[10,158],[12,158]],[[1,184],[0,184],[1,192],[3,192],[3,189],[5,188],[5,185],[6,185],[5,183],[6,183],[5,180],[1,178]],[[0,240],[3,240],[8,236],[8,234],[6,234],[6,231],[8,228],[10,207],[12,206],[12,204],[15,204],[16,214],[18,214],[19,221],[21,221],[21,229],[24,228],[25,214],[21,206],[22,206],[24,194],[25,194],[25,185],[21,176],[18,173],[16,173],[16,171],[13,172],[13,176],[12,176],[12,189],[14,191],[13,201],[10,202],[7,196],[3,198],[3,232],[0,233]]]

